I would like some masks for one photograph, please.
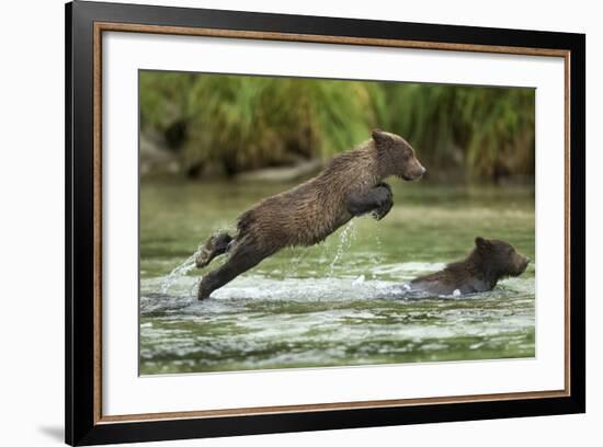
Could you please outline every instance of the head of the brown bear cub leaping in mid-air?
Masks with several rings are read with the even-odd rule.
[[[373,141],[383,167],[383,176],[396,175],[402,180],[418,180],[425,168],[417,160],[414,149],[402,137],[379,129],[373,130]]]

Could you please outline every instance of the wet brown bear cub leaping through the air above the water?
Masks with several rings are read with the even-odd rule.
[[[374,130],[372,139],[331,160],[316,177],[260,202],[239,216],[237,233],[214,234],[196,257],[205,267],[226,252],[229,259],[205,275],[198,299],[285,247],[314,245],[355,216],[372,213],[379,220],[392,206],[391,188],[384,180],[420,179],[425,169],[414,149],[400,136]]]

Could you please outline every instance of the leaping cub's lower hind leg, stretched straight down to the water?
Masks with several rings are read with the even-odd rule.
[[[272,253],[260,249],[237,245],[228,261],[219,268],[209,272],[203,277],[198,285],[197,298],[200,300],[208,298],[214,290],[230,283],[241,273],[254,267],[270,254]]]

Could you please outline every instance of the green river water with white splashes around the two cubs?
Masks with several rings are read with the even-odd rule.
[[[354,219],[321,244],[283,250],[197,301],[197,245],[291,185],[143,182],[140,374],[533,357],[533,187],[391,184],[385,219]],[[507,240],[533,262],[490,293],[387,297],[465,256],[476,236]]]

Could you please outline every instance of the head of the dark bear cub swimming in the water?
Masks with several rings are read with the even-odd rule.
[[[517,253],[509,242],[477,237],[475,243],[481,266],[500,278],[519,276],[530,264],[530,257]]]

